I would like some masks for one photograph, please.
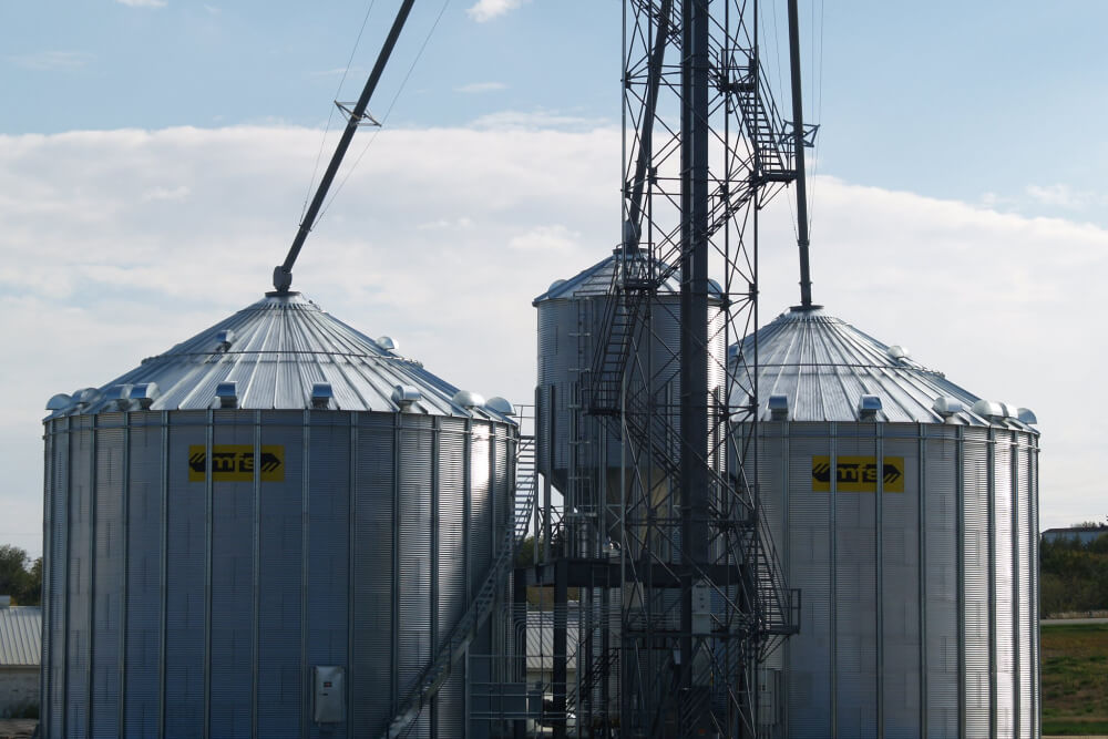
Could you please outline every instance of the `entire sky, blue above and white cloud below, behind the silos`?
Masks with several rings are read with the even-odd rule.
[[[0,0],[0,541],[37,552],[40,421],[254,301],[293,237],[368,7]],[[377,0],[355,100],[398,0]],[[1108,6],[801,0],[814,296],[1042,421],[1043,524],[1104,519]],[[419,0],[381,115],[442,0]],[[763,62],[784,2],[763,2]],[[299,287],[445,379],[529,398],[530,300],[619,233],[620,6],[452,0],[309,238]],[[788,91],[778,85],[788,110]],[[325,156],[334,142],[325,144]],[[346,175],[341,175],[345,177]],[[762,318],[796,301],[766,213]]]

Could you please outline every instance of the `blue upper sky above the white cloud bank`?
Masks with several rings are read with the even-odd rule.
[[[357,97],[397,4],[373,3],[346,99]],[[319,125],[368,7],[6,2],[0,131]],[[460,125],[502,111],[616,120],[619,2],[490,3],[504,11],[484,22],[468,12],[474,7],[445,3],[393,125]],[[442,0],[417,3],[375,111],[392,100],[442,8]],[[765,3],[762,16],[767,72],[787,78],[774,38],[784,30],[783,1]],[[804,0],[801,16],[808,117],[823,126],[821,172],[998,198],[1020,212],[1088,206],[1108,164],[1102,2]],[[1071,197],[1048,191],[1057,185]],[[1096,195],[1088,215],[1104,223]]]

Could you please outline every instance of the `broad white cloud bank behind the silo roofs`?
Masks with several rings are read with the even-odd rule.
[[[45,400],[103,384],[268,289],[319,132],[0,136],[0,510],[37,531]],[[485,396],[530,398],[531,300],[619,235],[619,132],[387,130],[312,233],[294,287]],[[342,175],[340,175],[342,176]],[[1108,232],[820,177],[817,302],[972,392],[1042,419],[1043,524],[1095,517],[1108,404]],[[796,302],[789,207],[763,212],[761,318]],[[1074,403],[1074,392],[1080,402]],[[33,547],[32,547],[33,548]]]

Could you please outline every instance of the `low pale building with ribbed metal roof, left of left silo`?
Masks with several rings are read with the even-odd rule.
[[[39,705],[42,608],[0,595],[0,717]]]

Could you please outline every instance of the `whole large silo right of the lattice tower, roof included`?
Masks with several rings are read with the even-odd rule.
[[[1034,414],[818,307],[736,361],[756,340],[761,500],[803,595],[762,720],[782,737],[1038,737]]]

